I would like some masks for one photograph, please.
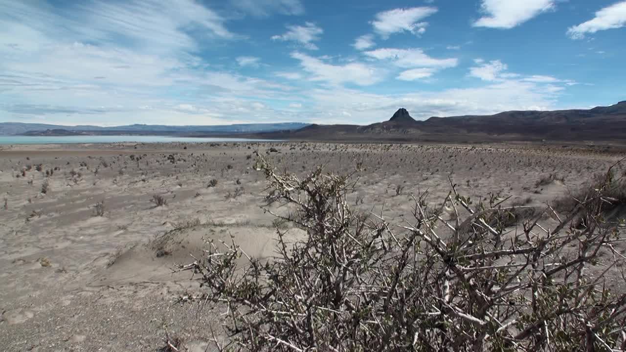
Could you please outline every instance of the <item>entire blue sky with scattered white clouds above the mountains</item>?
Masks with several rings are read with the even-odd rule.
[[[626,1],[0,0],[0,122],[367,124],[626,100]]]

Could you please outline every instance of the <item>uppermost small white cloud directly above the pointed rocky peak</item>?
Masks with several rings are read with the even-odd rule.
[[[372,21],[374,31],[382,38],[388,38],[394,33],[411,32],[419,35],[426,31],[428,23],[420,22],[437,12],[437,8],[423,6],[418,8],[393,9],[376,14]]]

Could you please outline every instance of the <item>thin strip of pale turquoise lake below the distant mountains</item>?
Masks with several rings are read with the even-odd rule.
[[[63,143],[161,143],[161,142],[277,142],[276,140],[221,138],[221,137],[167,137],[167,136],[0,136],[2,144],[63,144]]]

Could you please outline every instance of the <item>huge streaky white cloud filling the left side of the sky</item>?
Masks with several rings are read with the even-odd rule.
[[[120,125],[131,116],[135,123],[177,125],[290,119],[250,100],[294,100],[294,87],[208,65],[195,56],[198,46],[234,35],[202,24],[210,17],[200,17],[212,13],[202,5],[170,4],[159,11],[150,1],[93,3],[107,18],[78,4],[63,10],[43,2],[0,4],[0,120]],[[164,17],[168,13],[183,16]],[[202,34],[191,36],[185,26]],[[140,33],[151,30],[154,38]]]

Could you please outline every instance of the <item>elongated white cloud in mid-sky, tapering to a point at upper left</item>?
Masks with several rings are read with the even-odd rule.
[[[312,76],[311,81],[325,81],[333,85],[354,83],[356,85],[373,85],[382,80],[382,72],[372,66],[351,62],[346,65],[331,65],[307,54],[291,53],[291,57],[300,60],[302,68]]]

